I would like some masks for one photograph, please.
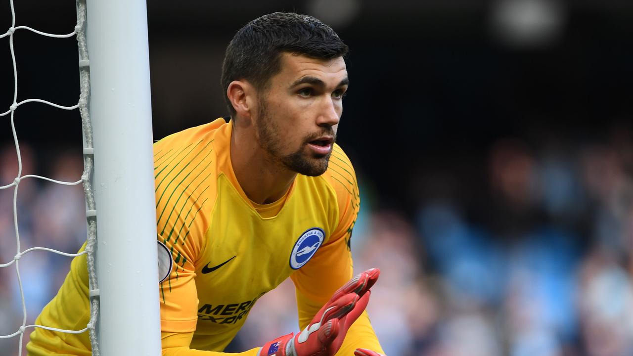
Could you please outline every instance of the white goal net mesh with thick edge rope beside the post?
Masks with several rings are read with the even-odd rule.
[[[91,186],[91,177],[92,177],[92,169],[93,169],[93,156],[92,156],[92,125],[88,111],[89,104],[89,94],[90,94],[90,72],[89,72],[89,57],[87,51],[87,43],[85,36],[85,1],[77,1],[77,23],[75,25],[75,29],[73,32],[69,34],[49,34],[46,32],[42,32],[37,29],[32,29],[27,26],[16,26],[16,15],[15,15],[15,6],[13,0],[9,0],[11,6],[11,27],[6,31],[6,33],[0,35],[0,39],[3,37],[9,37],[9,50],[11,53],[11,60],[13,62],[13,101],[9,106],[7,111],[0,113],[0,120],[4,117],[9,117],[11,122],[11,132],[13,134],[13,142],[15,144],[15,150],[17,155],[18,162],[18,172],[16,174],[13,182],[9,182],[8,184],[1,185],[1,189],[13,189],[13,226],[15,229],[15,241],[16,241],[16,253],[13,259],[8,262],[2,263],[0,261],[0,268],[15,268],[15,274],[18,280],[18,286],[20,289],[20,297],[22,298],[22,325],[17,327],[16,331],[11,334],[0,335],[0,339],[14,338],[18,337],[20,346],[18,347],[18,355],[22,355],[22,346],[23,346],[23,338],[25,331],[28,328],[33,327],[41,327],[43,329],[49,329],[53,331],[60,331],[63,333],[84,333],[88,331],[90,333],[91,344],[92,344],[92,354],[99,355],[99,345],[97,343],[96,337],[96,320],[97,314],[99,311],[99,286],[97,284],[96,278],[96,270],[95,270],[95,261],[94,261],[94,249],[96,245],[96,208],[94,203],[94,194]],[[13,47],[13,35],[17,30],[23,31],[31,31],[35,34],[39,34],[47,37],[55,37],[55,38],[67,38],[75,36],[77,37],[78,51],[79,51],[79,61],[78,67],[80,72],[80,96],[79,101],[76,105],[72,106],[63,106],[56,103],[51,103],[42,99],[25,99],[17,102],[18,98],[18,68],[16,65],[16,56],[15,49]],[[67,181],[58,181],[55,179],[51,179],[48,177],[43,177],[41,175],[27,174],[22,175],[22,156],[20,153],[20,143],[18,141],[18,134],[15,128],[15,120],[16,120],[16,112],[19,111],[20,106],[26,105],[29,103],[43,103],[46,105],[53,106],[55,108],[63,109],[63,110],[75,110],[78,109],[80,112],[81,120],[82,120],[82,129],[84,132],[84,172],[81,177],[77,181],[67,182]],[[20,231],[18,229],[18,188],[20,187],[20,182],[23,179],[42,179],[44,181],[53,182],[55,184],[61,184],[65,186],[77,186],[78,184],[83,184],[85,201],[86,201],[86,217],[87,217],[87,244],[84,251],[81,253],[68,253],[64,251],[59,251],[54,248],[47,247],[33,247],[28,248],[22,251],[20,247]],[[5,182],[0,182],[0,184],[4,184]],[[27,306],[25,302],[24,289],[22,285],[22,277],[20,277],[20,258],[22,258],[27,253],[31,251],[49,251],[51,253],[57,253],[59,255],[63,255],[66,257],[76,257],[79,255],[87,255],[87,262],[89,268],[89,288],[90,288],[90,296],[91,296],[91,319],[86,327],[79,330],[65,330],[65,329],[57,329],[54,327],[49,327],[45,325],[27,325]]]

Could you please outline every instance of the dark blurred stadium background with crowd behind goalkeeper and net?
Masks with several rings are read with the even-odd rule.
[[[16,0],[16,25],[68,33],[73,1]],[[633,353],[633,3],[554,0],[148,1],[154,138],[226,115],[223,49],[272,11],[329,23],[351,52],[339,143],[362,208],[356,270],[380,267],[368,307],[390,356]],[[0,31],[8,29],[0,1]],[[18,30],[18,101],[73,105],[77,46]],[[0,39],[0,111],[11,105]],[[79,115],[15,113],[23,174],[75,181]],[[130,155],[134,155],[130,152]],[[0,185],[16,176],[0,118]],[[13,189],[0,191],[0,262],[15,255]],[[22,250],[74,251],[80,188],[20,183]],[[20,260],[28,321],[70,260]],[[0,334],[22,323],[15,269],[0,269]],[[291,284],[258,302],[231,345],[296,329]],[[142,327],[142,326],[139,326]],[[15,355],[17,340],[0,340]]]

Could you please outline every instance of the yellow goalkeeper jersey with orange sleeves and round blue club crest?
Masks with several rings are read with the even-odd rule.
[[[156,230],[166,247],[162,260],[171,266],[159,284],[163,355],[222,355],[258,298],[287,277],[296,287],[303,329],[353,275],[349,246],[360,198],[342,149],[334,145],[324,174],[299,174],[280,200],[258,205],[235,178],[231,132],[232,122],[218,118],[154,144]],[[36,323],[85,327],[87,295],[82,255]],[[366,312],[337,355],[353,355],[358,347],[382,352]],[[36,328],[27,350],[90,355],[90,342],[87,333]]]

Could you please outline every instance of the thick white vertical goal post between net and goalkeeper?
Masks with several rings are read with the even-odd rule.
[[[103,356],[160,355],[146,0],[87,0]]]

